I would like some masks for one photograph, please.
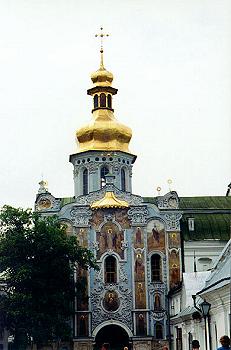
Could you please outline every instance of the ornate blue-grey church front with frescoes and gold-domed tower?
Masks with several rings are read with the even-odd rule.
[[[89,248],[99,270],[81,271],[73,320],[74,349],[159,349],[168,346],[168,293],[182,276],[179,198],[172,191],[155,203],[132,193],[131,129],[114,116],[117,89],[103,64],[91,75],[92,120],[77,133],[70,156],[75,193],[56,198],[40,183],[35,210],[58,215],[67,234]]]

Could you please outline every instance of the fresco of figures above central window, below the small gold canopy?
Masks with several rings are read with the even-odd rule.
[[[119,230],[119,227],[113,222],[107,222],[103,225],[101,232],[96,233],[96,239],[99,243],[99,250],[97,258],[107,250],[113,250],[118,253],[120,257],[124,258],[124,251],[122,250],[122,241],[124,240],[124,232]]]

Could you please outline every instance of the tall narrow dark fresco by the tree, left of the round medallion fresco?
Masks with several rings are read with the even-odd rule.
[[[79,268],[77,272],[77,310],[88,310],[87,271]]]

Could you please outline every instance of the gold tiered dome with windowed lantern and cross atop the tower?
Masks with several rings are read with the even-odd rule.
[[[77,153],[92,150],[130,153],[128,146],[132,131],[117,121],[112,108],[112,97],[118,90],[111,86],[113,74],[104,67],[102,40],[108,34],[103,34],[102,30],[96,34],[101,39],[100,67],[91,74],[93,87],[87,90],[88,95],[93,97],[93,118],[76,132],[79,146]]]

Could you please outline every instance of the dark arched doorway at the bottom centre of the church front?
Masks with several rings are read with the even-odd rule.
[[[103,343],[110,344],[110,350],[123,350],[129,348],[129,337],[127,332],[120,326],[110,325],[100,329],[95,337],[94,350],[100,350]]]

